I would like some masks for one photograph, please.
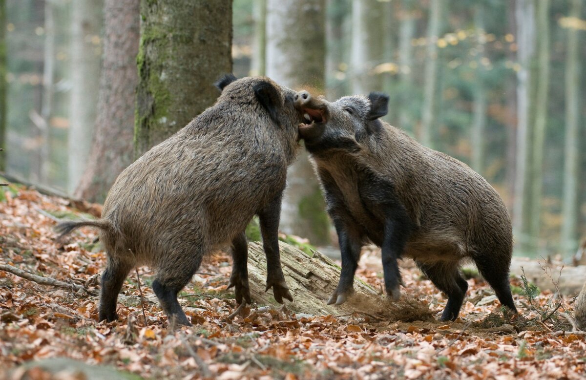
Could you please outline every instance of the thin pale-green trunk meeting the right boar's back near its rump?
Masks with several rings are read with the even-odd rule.
[[[479,4],[476,8],[475,26],[479,33],[484,33],[484,9],[483,5]],[[484,130],[486,126],[486,89],[484,86],[482,66],[482,58],[485,56],[485,46],[480,42],[476,45],[478,55],[476,56],[476,85],[474,86],[474,104],[473,104],[473,118],[472,118],[472,169],[479,174],[482,174],[484,162]]]

